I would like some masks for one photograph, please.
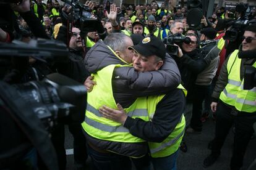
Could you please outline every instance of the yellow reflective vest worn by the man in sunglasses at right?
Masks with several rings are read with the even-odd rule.
[[[240,78],[241,59],[238,50],[234,51],[228,60],[228,84],[220,94],[220,99],[239,111],[253,113],[256,111],[256,87],[244,90],[244,79]],[[256,62],[253,67],[256,67]]]

